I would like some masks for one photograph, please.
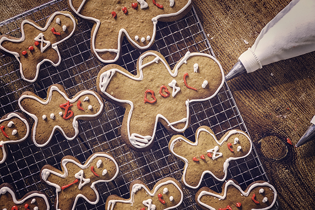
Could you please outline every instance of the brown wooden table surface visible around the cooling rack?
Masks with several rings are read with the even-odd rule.
[[[1,0],[0,21],[48,0]],[[194,0],[216,58],[227,73],[290,0]],[[280,209],[315,204],[315,141],[296,144],[315,114],[315,52],[263,66],[228,81]]]

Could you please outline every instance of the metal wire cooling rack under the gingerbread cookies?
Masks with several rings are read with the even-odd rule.
[[[67,10],[66,0],[53,0],[3,21],[0,23],[0,33],[19,38],[20,23],[24,19],[34,20],[43,27],[47,18],[58,10]],[[37,83],[31,84],[22,80],[18,61],[0,55],[0,116],[11,111],[20,111],[17,100],[24,91],[32,91],[41,98],[46,98],[50,85],[61,84],[71,98],[81,90],[96,90],[96,77],[104,64],[90,51],[93,24],[78,17],[77,19],[76,33],[58,45],[62,57],[61,64],[54,67],[50,63],[44,63],[40,69],[41,79]],[[156,42],[152,50],[160,52],[171,67],[174,67],[187,51],[205,52],[215,56],[194,8],[179,21],[158,22]],[[117,64],[130,72],[135,71],[141,52],[133,49],[126,40],[123,40],[122,52]],[[183,135],[191,141],[195,141],[195,132],[201,125],[209,126],[218,139],[230,129],[240,129],[248,133],[226,83],[216,97],[206,102],[192,103],[190,110],[191,125]],[[110,194],[128,199],[129,185],[136,179],[141,179],[150,189],[164,177],[173,177],[180,181],[184,163],[168,150],[168,142],[172,135],[158,124],[156,140],[151,151],[145,153],[131,151],[120,139],[123,114],[122,107],[105,102],[102,117],[94,121],[80,121],[79,136],[72,141],[66,140],[57,132],[50,147],[44,149],[37,148],[30,137],[24,143],[8,145],[8,158],[5,163],[0,164],[0,184],[10,183],[17,191],[18,198],[33,190],[42,191],[50,198],[54,209],[55,189],[41,182],[41,168],[45,164],[51,164],[61,169],[61,158],[66,155],[74,156],[84,163],[90,155],[100,151],[107,152],[116,159],[119,174],[111,183],[98,185],[101,199],[97,205],[90,205],[80,199],[76,206],[78,210],[104,210],[106,198]],[[255,148],[250,156],[230,162],[228,178],[238,181],[243,190],[254,181],[268,181]],[[206,175],[201,186],[208,186],[220,192],[222,184],[223,182]],[[189,190],[184,186],[183,189],[185,198],[178,209],[199,209],[194,200],[196,190]],[[276,204],[273,209],[278,209],[278,205]]]

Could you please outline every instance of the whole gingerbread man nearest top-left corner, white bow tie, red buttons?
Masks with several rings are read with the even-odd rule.
[[[48,61],[53,66],[61,62],[58,44],[69,39],[76,28],[76,20],[66,11],[54,12],[44,28],[32,20],[21,23],[21,38],[3,35],[0,37],[0,51],[14,56],[20,63],[22,78],[35,82],[41,65]]]

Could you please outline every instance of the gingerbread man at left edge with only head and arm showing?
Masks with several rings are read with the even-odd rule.
[[[7,158],[7,144],[18,144],[26,140],[30,133],[27,118],[22,113],[11,112],[0,119],[0,164]]]

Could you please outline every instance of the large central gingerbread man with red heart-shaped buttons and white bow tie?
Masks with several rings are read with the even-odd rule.
[[[190,124],[189,104],[214,97],[224,83],[220,63],[205,53],[187,52],[171,70],[158,52],[140,55],[137,75],[109,64],[97,77],[98,92],[126,108],[121,137],[135,151],[153,146],[157,122],[170,132]]]

